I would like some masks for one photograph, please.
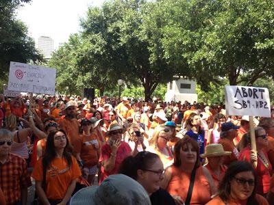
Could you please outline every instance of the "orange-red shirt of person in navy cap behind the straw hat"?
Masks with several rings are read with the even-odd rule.
[[[219,143],[223,146],[223,150],[232,152],[229,156],[224,156],[223,164],[227,167],[234,161],[238,161],[239,152],[237,148],[234,146],[234,142],[230,141],[227,138],[221,138],[219,139]]]

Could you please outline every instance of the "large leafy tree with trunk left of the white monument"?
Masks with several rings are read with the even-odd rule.
[[[153,3],[147,1],[106,1],[101,9],[90,8],[82,20],[84,38],[101,51],[96,58],[88,58],[97,59],[93,63],[106,73],[110,70],[115,83],[122,78],[136,84],[138,79],[144,87],[145,100],[158,83],[171,81],[177,74],[177,68],[169,66],[163,56],[158,32],[162,25],[151,23],[159,17],[157,13],[149,16],[152,8]],[[92,41],[94,38],[99,40]],[[85,64],[86,60],[83,67]]]

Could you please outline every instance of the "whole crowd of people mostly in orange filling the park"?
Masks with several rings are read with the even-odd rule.
[[[274,204],[274,115],[127,97],[0,102],[0,204],[27,204],[32,180],[33,204]]]

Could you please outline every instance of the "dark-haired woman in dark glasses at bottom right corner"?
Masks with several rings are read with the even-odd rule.
[[[257,174],[252,165],[245,161],[235,161],[229,165],[223,180],[219,184],[219,192],[206,205],[267,205],[262,195],[256,194]]]

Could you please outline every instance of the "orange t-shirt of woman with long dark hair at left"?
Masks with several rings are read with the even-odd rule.
[[[76,159],[71,156],[71,167],[68,167],[64,158],[55,158],[51,162],[51,168],[47,169],[46,174],[46,195],[48,199],[60,200],[66,195],[71,181],[82,175]],[[32,178],[42,182],[42,158],[38,160],[32,172]]]

